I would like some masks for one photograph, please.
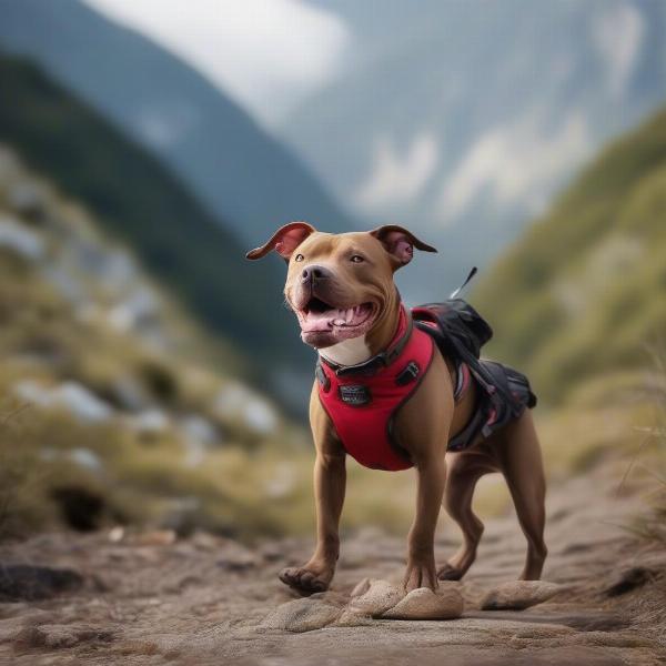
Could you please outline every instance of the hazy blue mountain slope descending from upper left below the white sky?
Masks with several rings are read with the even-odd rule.
[[[352,221],[282,144],[178,58],[78,0],[0,0],[0,48],[37,60],[163,158],[248,244],[309,219]]]

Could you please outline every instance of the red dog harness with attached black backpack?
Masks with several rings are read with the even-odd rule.
[[[474,275],[472,271],[465,284]],[[464,286],[464,285],[463,285]],[[462,287],[461,287],[462,289]],[[493,336],[488,323],[463,299],[401,306],[398,329],[389,347],[355,366],[336,366],[320,356],[316,364],[319,397],[337,435],[357,462],[375,470],[412,466],[408,453],[395,441],[393,424],[401,406],[416,390],[436,345],[456,369],[454,398],[470,382],[477,391],[476,408],[465,427],[448,442],[448,451],[463,451],[477,437],[494,432],[532,408],[536,397],[527,377],[507,365],[480,359]]]

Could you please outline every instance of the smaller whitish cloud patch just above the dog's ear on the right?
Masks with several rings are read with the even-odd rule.
[[[423,190],[440,161],[437,140],[421,132],[400,153],[389,137],[375,141],[373,164],[354,199],[369,212],[410,203]]]

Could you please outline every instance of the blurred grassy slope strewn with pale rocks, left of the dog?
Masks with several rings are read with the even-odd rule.
[[[239,468],[265,474],[249,457],[299,433],[103,226],[0,142],[0,542],[63,523],[275,531]]]

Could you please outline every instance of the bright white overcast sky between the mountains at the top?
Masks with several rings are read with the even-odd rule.
[[[84,0],[173,51],[271,127],[325,83],[350,33],[302,0]]]

